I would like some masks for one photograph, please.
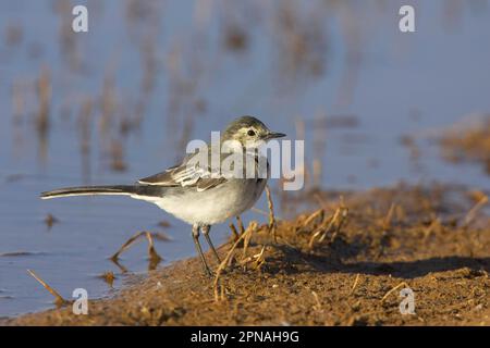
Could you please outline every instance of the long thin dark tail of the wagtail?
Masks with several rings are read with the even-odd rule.
[[[143,185],[118,185],[118,186],[82,186],[60,188],[52,191],[42,192],[41,199],[51,199],[70,196],[99,196],[99,195],[124,195],[124,196],[148,196],[159,195],[157,189],[151,189]]]

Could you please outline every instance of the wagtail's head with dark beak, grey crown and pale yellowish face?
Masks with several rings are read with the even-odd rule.
[[[260,120],[253,116],[242,116],[229,124],[221,137],[225,140],[236,140],[244,147],[259,147],[270,139],[284,137],[285,134],[271,132]]]

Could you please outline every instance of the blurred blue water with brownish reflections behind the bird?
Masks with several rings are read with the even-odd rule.
[[[88,8],[88,33],[72,9]],[[399,30],[415,8],[416,33]],[[40,191],[132,183],[194,138],[252,114],[305,139],[305,191],[442,182],[489,187],[446,161],[440,132],[490,113],[487,0],[0,1],[0,316],[52,307],[33,269],[70,298],[145,274],[138,231],[164,233],[159,266],[194,254],[191,229],[126,198],[40,201]],[[490,123],[489,123],[490,124]],[[490,167],[490,166],[489,166]],[[274,198],[281,195],[271,183]],[[295,195],[295,192],[291,192]],[[298,209],[281,209],[287,217]],[[267,221],[264,197],[243,216]],[[226,224],[212,231],[217,244]],[[108,285],[100,275],[113,272]]]

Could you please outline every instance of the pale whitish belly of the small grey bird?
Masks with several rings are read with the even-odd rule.
[[[197,191],[169,189],[155,204],[189,224],[212,225],[250,209],[264,191],[267,179],[234,179],[218,187]]]

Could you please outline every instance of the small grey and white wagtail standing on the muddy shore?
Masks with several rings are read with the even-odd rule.
[[[238,216],[250,209],[260,198],[270,169],[267,158],[259,148],[265,142],[284,137],[285,134],[270,130],[254,116],[241,116],[232,121],[220,134],[219,142],[206,142],[201,151],[188,153],[174,166],[161,173],[142,178],[132,185],[81,186],[60,188],[42,192],[41,199],[72,196],[130,196],[131,198],[157,204],[192,226],[192,237],[205,274],[212,275],[199,243],[200,234],[206,238],[218,263],[220,258],[209,236],[211,226],[230,217]],[[232,153],[242,150],[243,172],[233,162],[230,171],[218,171],[206,161],[197,161],[197,156],[211,158],[213,151],[229,144],[229,151],[219,151],[219,164],[222,165]],[[231,149],[231,151],[230,151]],[[200,159],[204,159],[201,157]],[[252,160],[248,162],[248,160]],[[204,162],[204,163],[203,163]],[[212,162],[212,158],[211,158]],[[232,161],[230,161],[232,162]],[[216,163],[216,162],[215,162]],[[254,165],[255,175],[238,175],[246,172],[246,163]],[[258,175],[260,163],[266,163],[266,175]],[[234,171],[236,169],[236,171]],[[252,176],[252,177],[250,177]]]

